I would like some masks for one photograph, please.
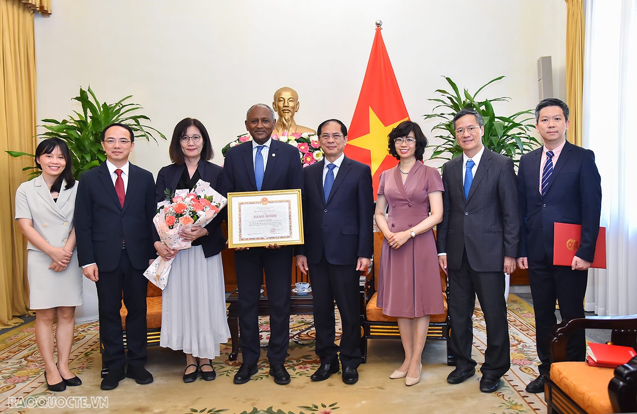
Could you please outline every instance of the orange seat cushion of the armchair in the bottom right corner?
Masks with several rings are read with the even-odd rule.
[[[551,381],[589,414],[612,413],[608,383],[614,369],[589,366],[586,362],[554,362]]]

